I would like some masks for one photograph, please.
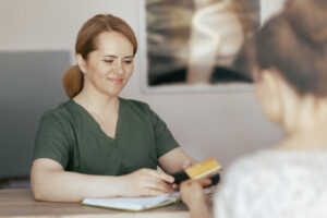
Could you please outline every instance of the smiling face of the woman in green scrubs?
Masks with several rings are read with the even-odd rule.
[[[121,33],[104,32],[97,37],[96,48],[84,61],[85,85],[114,97],[133,73],[133,45]]]

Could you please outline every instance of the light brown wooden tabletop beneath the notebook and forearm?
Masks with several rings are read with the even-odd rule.
[[[82,206],[80,203],[37,202],[29,189],[0,190],[0,217],[45,217],[45,218],[125,218],[125,217],[155,217],[155,218],[184,218],[190,217],[183,203],[138,213],[104,209]]]

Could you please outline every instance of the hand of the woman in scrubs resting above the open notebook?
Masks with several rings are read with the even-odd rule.
[[[122,196],[156,196],[173,191],[173,177],[153,169],[140,169],[121,179]]]

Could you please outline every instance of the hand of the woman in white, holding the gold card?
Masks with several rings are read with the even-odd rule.
[[[198,181],[187,180],[181,183],[180,191],[182,194],[182,201],[190,209],[205,204],[207,196],[204,193],[203,187],[209,184],[211,184],[211,181],[208,179]]]

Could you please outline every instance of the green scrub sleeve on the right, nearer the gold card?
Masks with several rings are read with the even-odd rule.
[[[161,157],[173,148],[179,147],[179,144],[159,116],[152,109],[149,111],[155,132],[157,156]]]

